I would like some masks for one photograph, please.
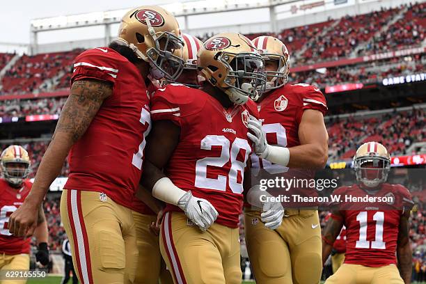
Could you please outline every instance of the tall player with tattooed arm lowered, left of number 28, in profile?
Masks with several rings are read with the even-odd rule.
[[[182,45],[171,13],[141,6],[125,14],[109,47],[89,49],[75,59],[70,96],[33,190],[10,217],[9,228],[18,236],[33,231],[36,209],[68,155],[61,218],[81,283],[134,281],[138,251],[129,207],[151,127],[148,74],[178,77],[183,60],[173,52]]]

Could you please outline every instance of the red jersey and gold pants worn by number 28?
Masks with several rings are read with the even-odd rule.
[[[180,141],[164,173],[219,212],[202,232],[180,208],[166,205],[160,248],[175,283],[241,283],[238,217],[252,151],[249,114],[258,117],[251,100],[224,109],[203,90],[177,84],[157,90],[152,98],[152,120],[171,120],[180,127]]]

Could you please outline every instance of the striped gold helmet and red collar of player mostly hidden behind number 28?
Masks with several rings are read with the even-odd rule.
[[[175,50],[174,54],[184,60],[184,70],[176,81],[171,82],[184,84],[191,88],[200,88],[199,82],[204,77],[198,75],[197,53],[203,46],[203,42],[187,33],[182,33],[182,38],[184,40],[184,47],[183,49]]]

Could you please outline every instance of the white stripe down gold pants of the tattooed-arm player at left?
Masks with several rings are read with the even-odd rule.
[[[77,190],[70,189],[70,191],[71,191],[72,221],[74,222],[75,234],[77,235],[76,236],[77,248],[79,249],[81,277],[83,277],[83,283],[89,283],[87,262],[86,262],[86,249],[84,247],[83,230],[81,230],[81,223],[79,219],[79,207],[77,206]]]

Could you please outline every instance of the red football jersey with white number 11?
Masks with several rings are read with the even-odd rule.
[[[340,203],[332,206],[340,211],[346,227],[345,263],[381,267],[396,264],[398,227],[404,210],[411,210],[413,201],[408,189],[400,184],[382,184],[376,194],[354,185],[333,192]],[[350,202],[347,197],[392,197],[392,202]],[[332,214],[331,218],[340,219]]]

